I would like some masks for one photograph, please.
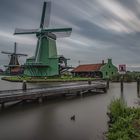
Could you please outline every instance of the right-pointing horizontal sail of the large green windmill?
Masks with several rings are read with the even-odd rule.
[[[45,29],[44,32],[52,32],[57,38],[69,37],[72,32],[72,28],[58,28],[58,29]]]

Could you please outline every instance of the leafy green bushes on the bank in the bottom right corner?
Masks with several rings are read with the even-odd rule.
[[[128,107],[121,99],[109,105],[107,140],[139,140],[140,108]]]

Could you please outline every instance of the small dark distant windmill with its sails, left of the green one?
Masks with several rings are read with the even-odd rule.
[[[18,57],[20,56],[27,56],[27,54],[21,54],[21,53],[17,53],[17,43],[15,42],[14,45],[14,52],[7,52],[7,51],[1,51],[1,53],[3,54],[8,54],[10,56],[10,62],[8,65],[5,65],[8,71],[12,71],[12,69],[14,69],[15,67],[19,67],[19,61],[18,61]]]

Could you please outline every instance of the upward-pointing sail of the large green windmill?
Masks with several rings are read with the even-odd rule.
[[[41,22],[40,22],[41,29],[49,26],[50,13],[51,13],[51,1],[44,2],[43,9],[42,9]]]

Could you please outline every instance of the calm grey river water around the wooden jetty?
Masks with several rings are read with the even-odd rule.
[[[0,81],[0,90],[21,86]],[[28,84],[28,87],[40,86],[45,84]],[[0,140],[102,140],[107,130],[107,106],[115,97],[120,97],[119,83],[111,83],[107,94],[55,99],[43,105],[10,109],[0,115]],[[124,98],[128,105],[135,105],[136,83],[124,85]],[[75,121],[70,120],[73,114]]]

